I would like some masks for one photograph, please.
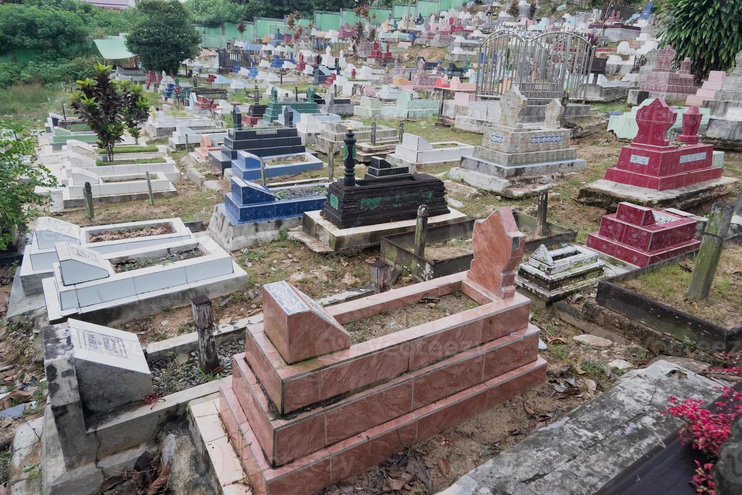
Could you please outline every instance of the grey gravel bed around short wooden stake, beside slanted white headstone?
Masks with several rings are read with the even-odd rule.
[[[210,375],[201,373],[196,351],[171,355],[168,359],[154,361],[149,365],[154,393],[158,397],[164,397],[171,393],[180,392],[180,390],[229,376],[232,374],[232,356],[244,351],[244,339],[217,344],[217,353],[223,369]]]

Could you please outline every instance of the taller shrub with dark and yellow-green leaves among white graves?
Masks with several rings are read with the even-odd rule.
[[[114,145],[123,140],[126,128],[122,117],[125,98],[111,79],[111,65],[96,64],[93,72],[94,79],[77,82],[79,90],[73,93],[70,106],[78,117],[88,122],[98,135],[98,147],[105,149],[108,160],[113,160]]]

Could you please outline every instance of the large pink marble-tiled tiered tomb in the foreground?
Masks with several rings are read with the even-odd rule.
[[[255,494],[316,493],[545,379],[530,301],[512,289],[523,235],[509,208],[477,226],[471,275],[326,309],[288,283],[264,287],[264,322],[247,328],[218,400]],[[346,339],[343,324],[458,290],[481,306],[361,344]]]

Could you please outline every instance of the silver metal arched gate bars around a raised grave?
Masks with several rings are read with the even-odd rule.
[[[482,42],[476,94],[499,98],[516,84],[529,99],[585,99],[594,48],[577,33],[499,30]]]

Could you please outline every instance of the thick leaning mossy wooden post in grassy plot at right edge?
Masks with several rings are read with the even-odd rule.
[[[732,204],[721,202],[714,203],[711,207],[709,221],[696,255],[691,284],[688,286],[689,298],[700,300],[709,297],[726,231],[729,230],[729,223],[732,223],[733,209]]]

